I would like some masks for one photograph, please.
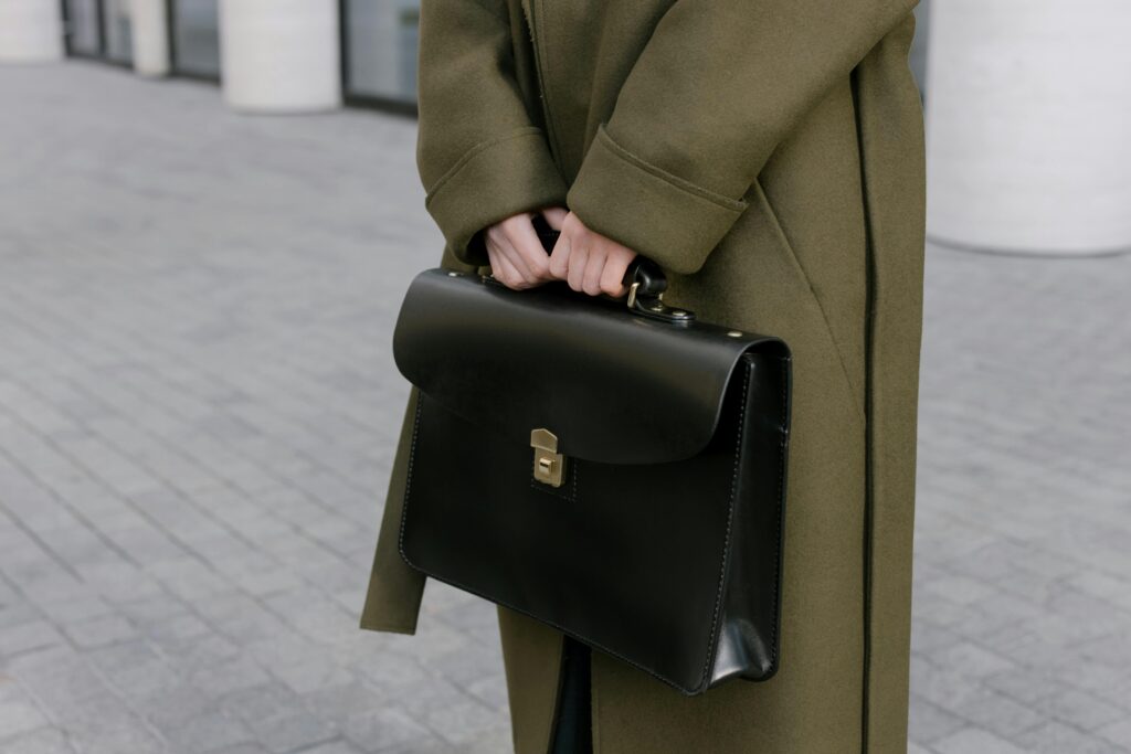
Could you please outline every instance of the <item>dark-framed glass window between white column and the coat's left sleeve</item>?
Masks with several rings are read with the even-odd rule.
[[[345,0],[347,95],[416,101],[420,0]]]

